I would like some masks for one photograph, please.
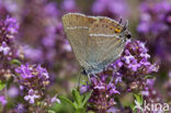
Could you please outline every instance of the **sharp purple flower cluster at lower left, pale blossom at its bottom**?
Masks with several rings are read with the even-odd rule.
[[[44,95],[44,90],[49,84],[49,76],[45,68],[41,65],[21,65],[15,69],[19,74],[18,82],[20,89],[25,92],[24,99],[31,104],[35,103],[36,99],[41,99]]]

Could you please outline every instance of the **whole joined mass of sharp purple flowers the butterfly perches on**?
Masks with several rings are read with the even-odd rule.
[[[122,56],[106,71],[92,76],[91,84],[82,86],[80,90],[93,90],[90,103],[95,111],[105,112],[115,104],[115,97],[147,88],[148,82],[144,77],[158,71],[158,66],[152,65],[149,57],[145,43],[128,41]]]

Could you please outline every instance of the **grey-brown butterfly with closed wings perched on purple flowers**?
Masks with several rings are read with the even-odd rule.
[[[122,20],[81,13],[65,14],[61,20],[73,54],[87,75],[105,70],[121,56],[130,38],[127,24],[122,25]]]

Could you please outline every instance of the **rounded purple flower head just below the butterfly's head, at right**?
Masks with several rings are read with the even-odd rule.
[[[149,61],[150,55],[140,41],[128,41],[122,56],[111,64],[114,70],[117,70],[117,76],[114,72],[116,80],[119,77],[126,81],[126,91],[142,90],[146,87],[145,76],[157,72],[158,65]],[[122,75],[122,76],[121,76]],[[133,79],[134,78],[134,79]]]

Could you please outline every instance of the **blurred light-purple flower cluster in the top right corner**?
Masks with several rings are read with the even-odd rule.
[[[167,2],[167,0],[161,0],[160,2],[147,0],[141,3],[140,9],[141,15],[137,27],[138,32],[157,36],[170,30],[171,3]]]

